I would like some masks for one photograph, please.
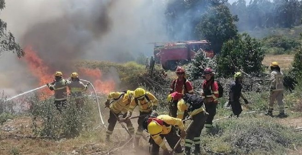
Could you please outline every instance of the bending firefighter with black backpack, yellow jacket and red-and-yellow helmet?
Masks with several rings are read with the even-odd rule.
[[[194,143],[194,154],[200,154],[200,134],[208,116],[208,113],[202,107],[204,101],[202,97],[197,95],[188,93],[184,95],[178,92],[174,92],[167,97],[168,101],[173,99],[179,100],[177,103],[177,118],[183,119],[186,111],[190,115],[191,120],[194,120],[185,138],[185,153],[191,154],[191,147]]]

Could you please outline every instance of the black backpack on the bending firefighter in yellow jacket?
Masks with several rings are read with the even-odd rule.
[[[198,95],[195,95],[195,94],[189,94],[189,93],[186,93],[184,95],[184,97],[182,97],[182,99],[187,103],[189,104],[188,105],[188,111],[193,111],[195,109],[198,109],[200,108],[203,103],[204,103],[204,100],[198,96]]]

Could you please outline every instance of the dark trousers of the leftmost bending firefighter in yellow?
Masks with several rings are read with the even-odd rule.
[[[115,113],[113,113],[113,112],[110,110],[109,118],[108,118],[108,123],[109,123],[109,125],[108,125],[108,128],[107,128],[107,130],[106,130],[106,136],[110,136],[110,135],[112,134],[113,129],[114,129],[114,127],[115,127],[115,124],[116,124],[116,122],[117,122],[117,118],[114,116],[114,114],[115,114]],[[115,115],[118,117],[118,114],[115,114]],[[127,115],[127,114],[124,114],[124,115],[123,115],[123,118],[125,118],[126,115]],[[130,134],[133,135],[133,134],[134,134],[134,128],[133,128],[133,125],[132,125],[131,121],[130,121],[130,120],[125,120],[124,122],[126,123],[127,128],[128,128],[128,130],[129,130]]]

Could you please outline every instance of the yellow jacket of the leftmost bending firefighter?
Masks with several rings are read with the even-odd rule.
[[[130,100],[128,100],[128,95],[123,92],[111,92],[108,94],[107,101],[113,100],[110,104],[110,109],[115,113],[127,113],[130,105]]]

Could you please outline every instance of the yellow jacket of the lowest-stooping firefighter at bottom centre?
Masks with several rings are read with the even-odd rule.
[[[164,140],[162,137],[160,137],[161,134],[169,134],[171,132],[172,125],[178,126],[180,130],[185,130],[185,126],[182,123],[182,120],[179,118],[174,118],[169,115],[159,115],[157,116],[158,119],[165,122],[165,124],[168,124],[168,127],[166,125],[162,125],[162,132],[156,135],[151,135],[154,142],[159,145],[164,150],[167,150],[167,147],[165,146]]]

